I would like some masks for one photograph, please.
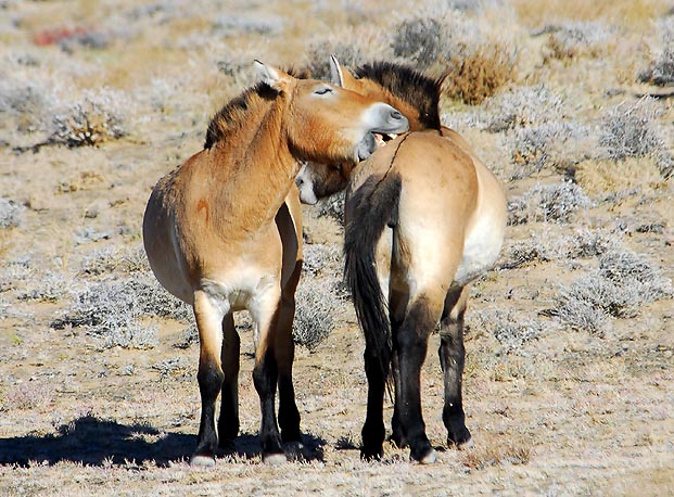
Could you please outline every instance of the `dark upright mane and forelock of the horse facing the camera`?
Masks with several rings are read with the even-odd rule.
[[[297,79],[308,79],[310,74],[306,69],[295,69],[293,67],[285,71]],[[227,130],[241,122],[243,114],[247,111],[253,99],[274,100],[278,97],[278,91],[265,82],[258,82],[254,87],[244,90],[239,97],[234,97],[225,104],[211,119],[206,131],[204,149],[211,149],[214,143],[222,139]]]

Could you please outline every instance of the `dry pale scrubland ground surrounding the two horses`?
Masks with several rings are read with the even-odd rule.
[[[667,12],[672,17],[666,2],[476,3],[480,10],[461,15],[480,17],[476,25],[488,33],[501,22],[512,27],[507,42],[518,48],[518,76],[501,93],[546,85],[568,103],[560,119],[587,124],[592,137],[607,110],[656,94],[650,118],[664,137],[658,153],[671,156],[671,94],[636,77],[658,58],[658,22]],[[407,7],[394,2],[390,23],[411,15]],[[0,207],[11,213],[0,212],[0,220],[9,219],[0,226],[0,495],[674,494],[672,179],[661,174],[657,153],[577,158],[586,143],[580,138],[555,152],[562,154],[557,165],[513,174],[514,135],[484,126],[496,100],[476,106],[448,100],[443,117],[508,196],[571,177],[589,203],[561,221],[530,217],[509,226],[497,268],[474,284],[463,398],[475,446],[446,447],[435,334],[422,392],[438,462],[414,464],[407,450],[389,444],[383,461],[360,461],[364,341],[351,302],[334,297],[327,283],[339,279],[339,256],[317,256],[319,269],[304,281],[326,282],[334,327],[314,348],[297,347],[303,454],[285,466],[260,462],[253,336],[241,320],[237,453],[215,468],[188,464],[199,429],[199,347],[186,342],[192,319],[180,314],[186,309],[148,286],[155,283],[141,222],[151,188],[202,148],[211,115],[253,81],[245,64],[255,58],[306,64],[314,40],[348,29],[367,35],[358,29],[368,23],[390,29],[395,24],[378,21],[382,9],[389,11],[381,2],[351,1],[0,0],[0,200],[9,202]],[[547,35],[532,33],[564,22],[602,23],[607,40],[598,53],[550,62]],[[371,53],[363,54],[367,62]],[[77,102],[106,110],[91,120],[101,135],[92,146],[75,146],[77,133],[68,141],[67,130],[51,128],[72,124],[59,116]],[[119,117],[123,133],[110,116]],[[313,253],[339,254],[339,222],[320,215],[320,206],[305,206],[304,215]],[[594,275],[600,260],[558,250],[578,233],[638,254],[654,268],[651,280],[665,289],[669,282],[669,295],[607,315],[597,329],[561,321],[550,311],[559,295]],[[122,337],[97,332],[93,321],[126,313],[133,304],[123,296],[138,288],[171,310],[129,314]],[[91,297],[103,290],[106,301]],[[88,323],[66,319],[85,305],[93,309]],[[126,340],[124,330],[136,334]],[[391,413],[387,403],[386,420]]]

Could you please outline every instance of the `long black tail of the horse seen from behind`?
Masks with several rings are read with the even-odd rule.
[[[344,233],[346,282],[365,334],[366,354],[372,356],[383,379],[389,378],[391,367],[391,322],[377,278],[374,251],[384,228],[397,224],[399,197],[399,176],[369,178],[349,200],[351,214]]]

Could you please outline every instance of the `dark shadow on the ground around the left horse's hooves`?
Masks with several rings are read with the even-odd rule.
[[[323,460],[325,439],[305,434],[302,442],[301,448],[284,447],[289,460]],[[26,467],[37,462],[51,466],[69,461],[85,466],[124,466],[149,462],[165,468],[188,461],[194,447],[196,435],[166,432],[147,424],[120,424],[89,415],[60,426],[55,434],[0,438],[0,464]],[[218,454],[218,458],[222,456],[259,460],[257,434],[241,434],[234,441],[234,449]]]

